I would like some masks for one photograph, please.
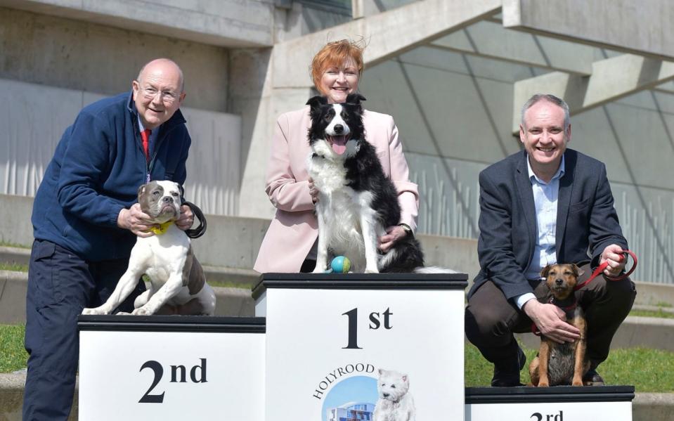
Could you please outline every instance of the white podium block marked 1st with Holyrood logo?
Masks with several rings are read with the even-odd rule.
[[[378,386],[408,388],[417,420],[462,420],[466,280],[265,273],[266,420],[372,420]]]

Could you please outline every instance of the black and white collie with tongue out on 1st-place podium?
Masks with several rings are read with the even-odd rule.
[[[307,168],[318,189],[318,255],[314,272],[325,271],[328,254],[351,259],[355,272],[413,272],[424,266],[420,244],[412,235],[386,254],[377,237],[400,222],[394,184],[384,175],[375,147],[365,140],[363,108],[358,93],[346,103],[328,104],[322,96],[311,106]]]

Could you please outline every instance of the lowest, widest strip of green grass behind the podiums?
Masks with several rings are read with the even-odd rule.
[[[25,368],[28,355],[23,349],[25,325],[0,325],[0,373]],[[529,382],[529,362],[534,349],[524,349],[527,364],[520,381]],[[599,373],[607,384],[634,384],[637,392],[674,392],[674,352],[656,349],[614,349],[600,365]],[[485,387],[491,382],[493,367],[471,344],[465,349],[465,384]]]

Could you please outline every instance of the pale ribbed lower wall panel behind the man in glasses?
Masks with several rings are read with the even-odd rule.
[[[100,94],[0,79],[0,193],[34,196],[64,129]],[[236,214],[240,117],[182,108],[193,141],[185,184],[211,214]],[[28,123],[28,124],[27,124]]]

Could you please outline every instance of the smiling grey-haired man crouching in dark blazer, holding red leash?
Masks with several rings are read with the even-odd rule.
[[[552,95],[535,95],[524,104],[519,127],[524,151],[480,173],[480,273],[468,294],[467,338],[494,364],[494,387],[519,386],[525,356],[513,332],[531,332],[536,324],[555,342],[573,342],[578,329],[564,311],[547,304],[550,291],[540,279],[547,264],[575,263],[586,279],[604,261],[597,276],[576,291],[588,320],[590,371],[585,384],[603,384],[597,365],[635,299],[629,278],[611,281],[625,268],[627,250],[606,167],[576,150],[571,140],[569,106]],[[608,278],[607,278],[608,277]]]

